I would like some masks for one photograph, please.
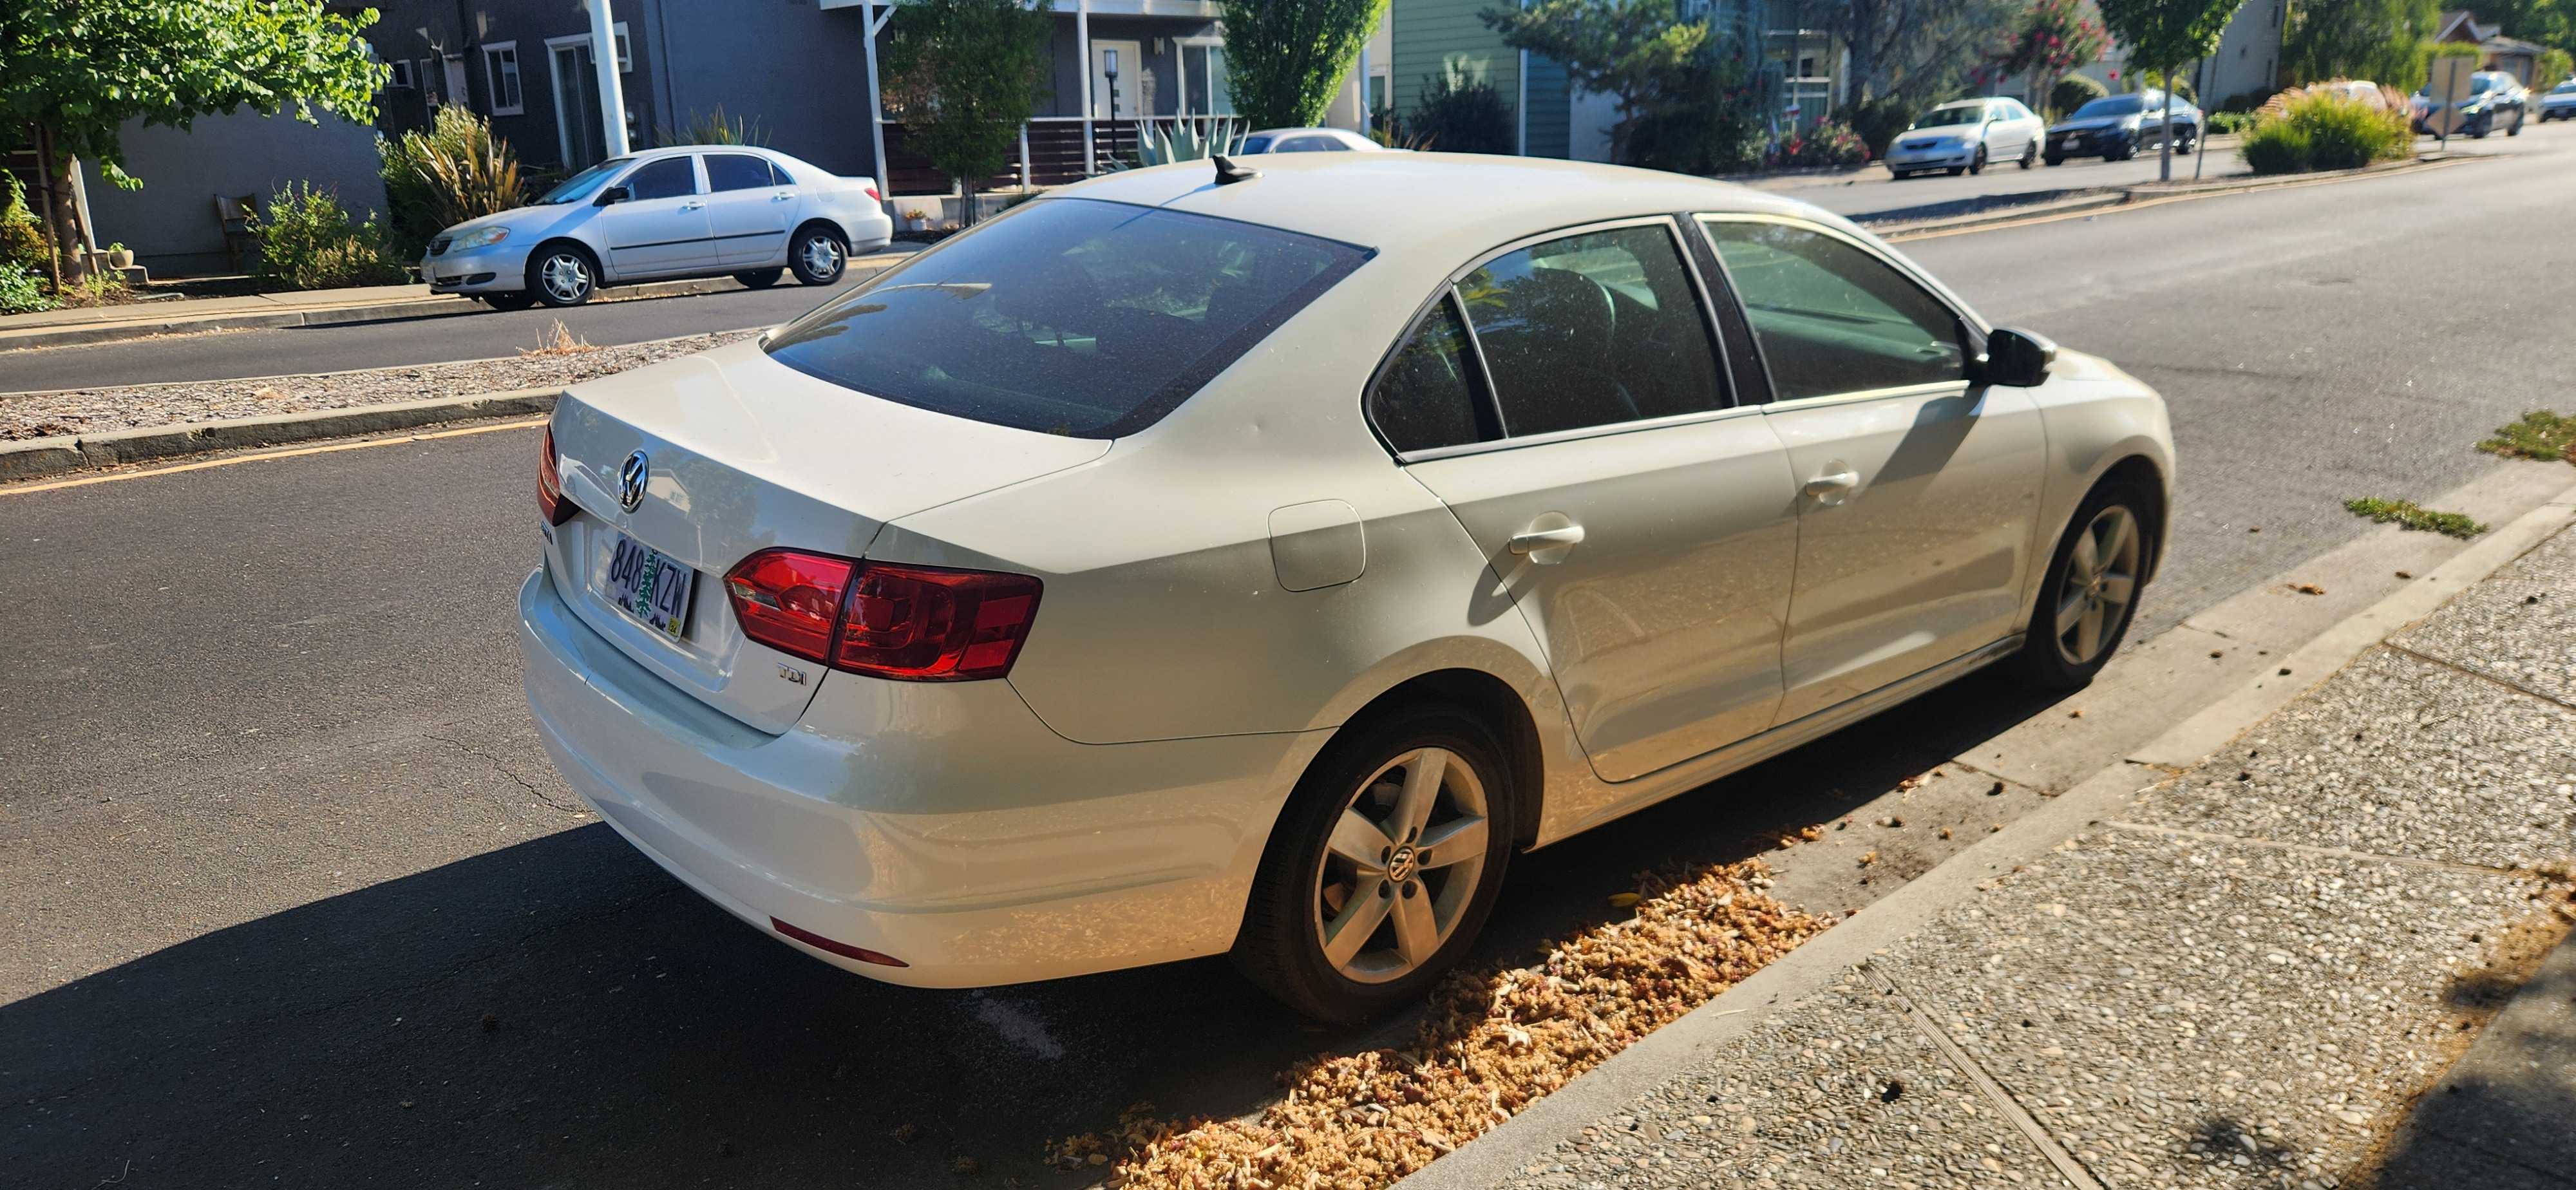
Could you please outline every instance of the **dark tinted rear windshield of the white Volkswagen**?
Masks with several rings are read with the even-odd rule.
[[[778,363],[1020,430],[1154,425],[1368,260],[1352,245],[1097,198],[1043,198],[770,337]]]

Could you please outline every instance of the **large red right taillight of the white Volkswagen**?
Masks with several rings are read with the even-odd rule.
[[[868,677],[1002,677],[1038,616],[1038,580],[765,549],[724,577],[742,634]]]

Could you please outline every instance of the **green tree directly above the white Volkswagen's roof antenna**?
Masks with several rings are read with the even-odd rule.
[[[1226,98],[1255,129],[1324,121],[1388,0],[1224,0]]]

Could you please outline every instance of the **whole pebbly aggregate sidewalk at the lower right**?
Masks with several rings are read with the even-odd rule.
[[[2576,1187],[2576,528],[2197,765],[2099,780],[1406,1190]]]

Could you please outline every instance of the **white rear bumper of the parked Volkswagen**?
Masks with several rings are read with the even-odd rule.
[[[1074,744],[1007,683],[829,675],[770,737],[520,587],[528,706],[564,780],[654,863],[827,963],[987,987],[1226,950],[1314,734]],[[832,953],[778,922],[894,956]]]

